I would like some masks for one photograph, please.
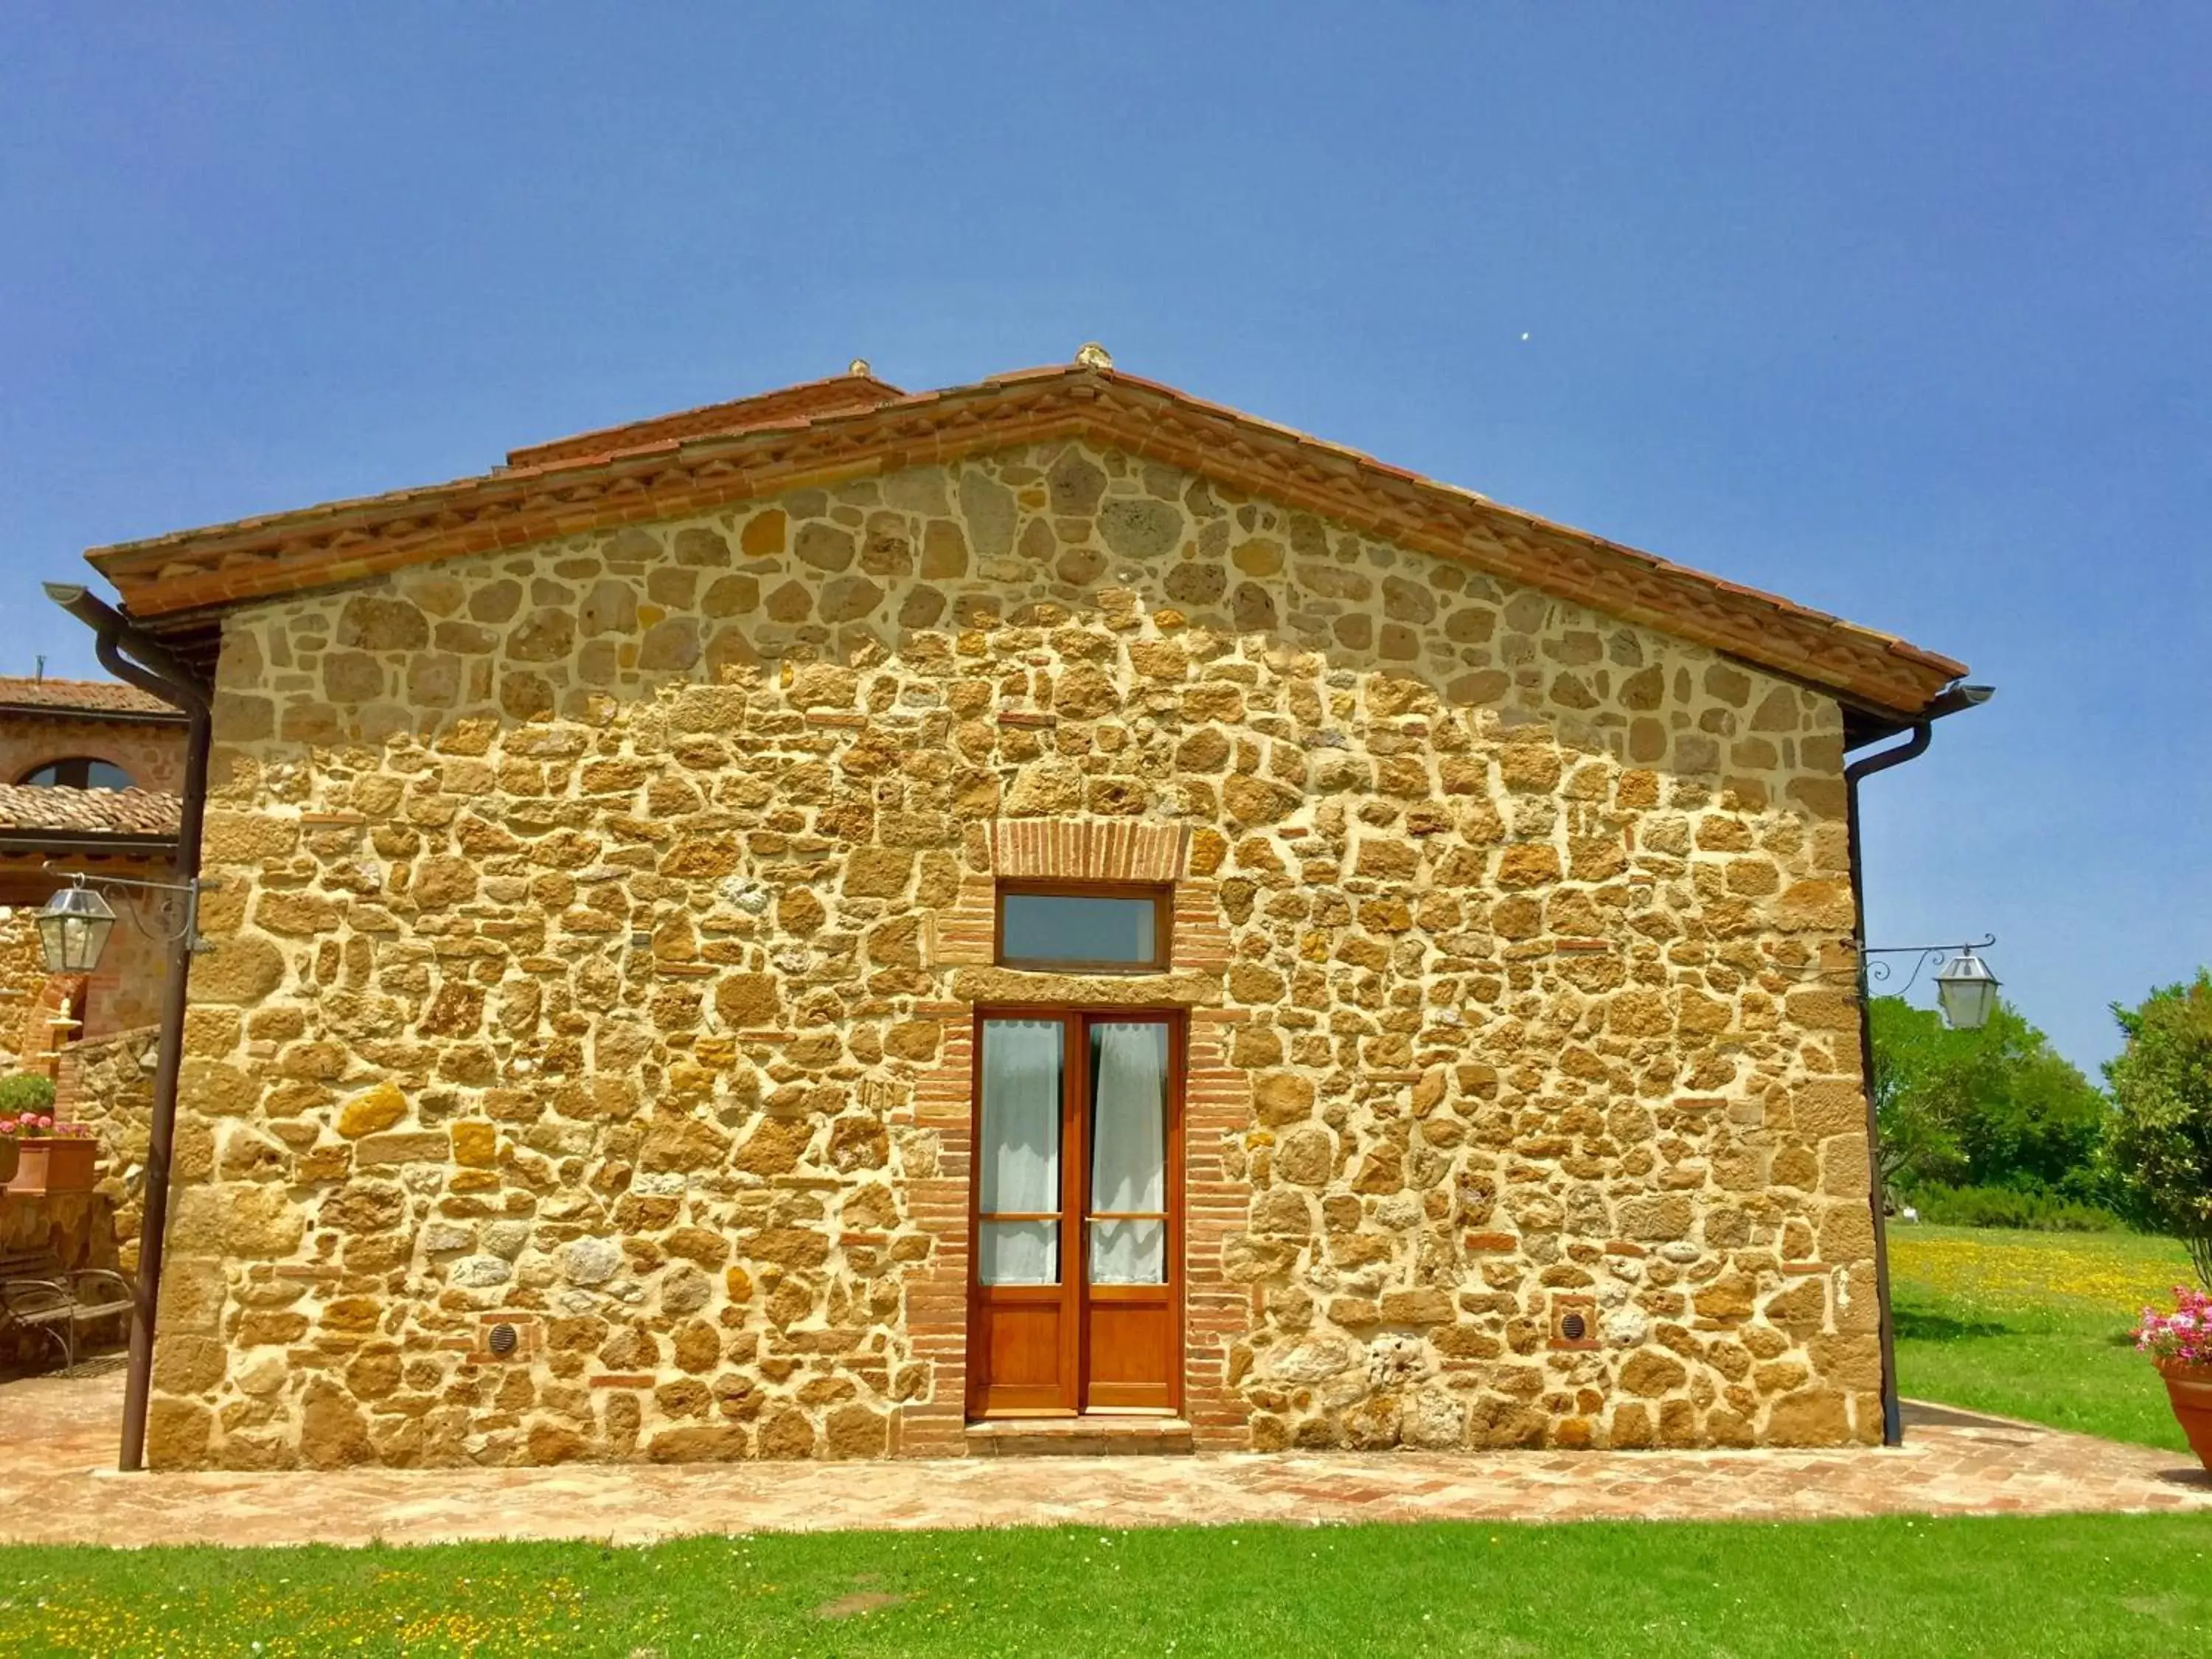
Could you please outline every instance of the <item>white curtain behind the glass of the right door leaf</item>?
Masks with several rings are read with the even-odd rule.
[[[1168,1026],[1091,1026],[1091,1208],[1161,1212],[1168,1208]],[[1168,1281],[1168,1230],[1161,1221],[1093,1221],[1093,1285]]]

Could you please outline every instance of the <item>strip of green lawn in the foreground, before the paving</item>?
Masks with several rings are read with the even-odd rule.
[[[0,1553],[11,1655],[2174,1655],[2201,1515]]]

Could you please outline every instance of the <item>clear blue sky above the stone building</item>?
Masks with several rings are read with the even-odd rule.
[[[737,11],[0,11],[0,670],[91,544],[1099,338],[1971,661],[1871,933],[2077,1062],[2212,960],[2212,9]]]

